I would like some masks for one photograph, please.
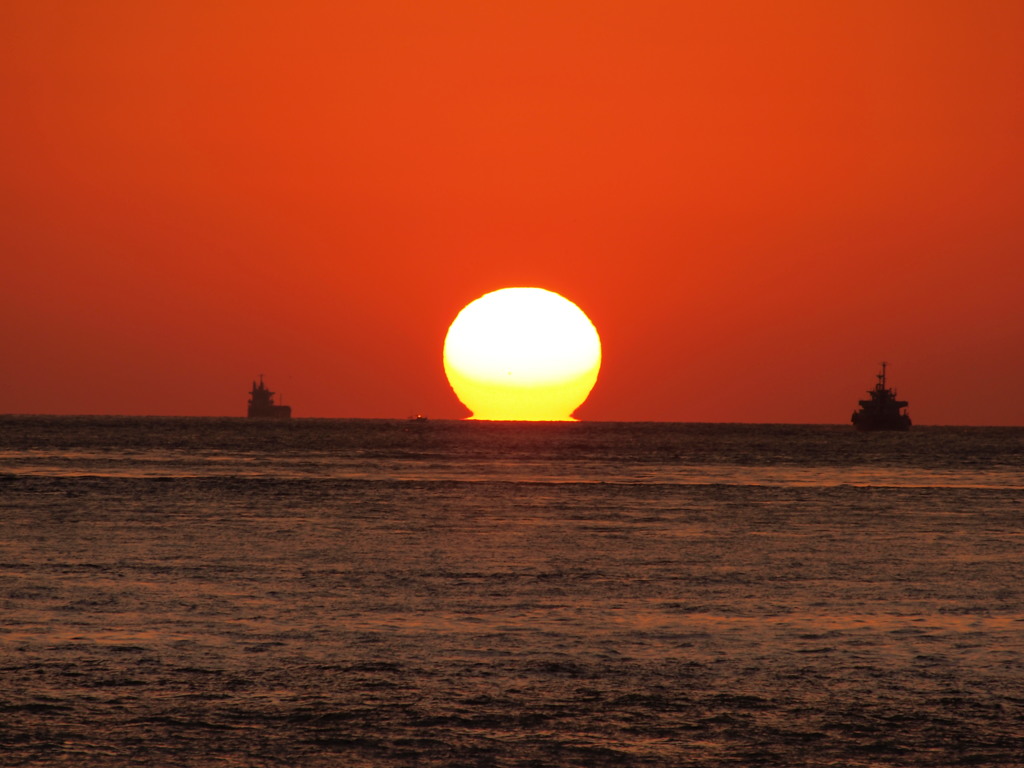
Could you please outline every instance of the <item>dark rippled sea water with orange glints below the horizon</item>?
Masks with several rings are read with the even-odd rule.
[[[1024,429],[3,417],[0,764],[1020,766]]]

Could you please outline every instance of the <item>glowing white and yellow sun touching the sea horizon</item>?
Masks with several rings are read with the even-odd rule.
[[[594,324],[542,288],[481,296],[459,312],[444,339],[444,373],[473,419],[571,421],[600,368]]]

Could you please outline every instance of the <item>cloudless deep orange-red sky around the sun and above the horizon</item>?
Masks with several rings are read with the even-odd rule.
[[[0,413],[461,418],[466,303],[579,416],[1024,425],[1024,4],[0,4]]]

